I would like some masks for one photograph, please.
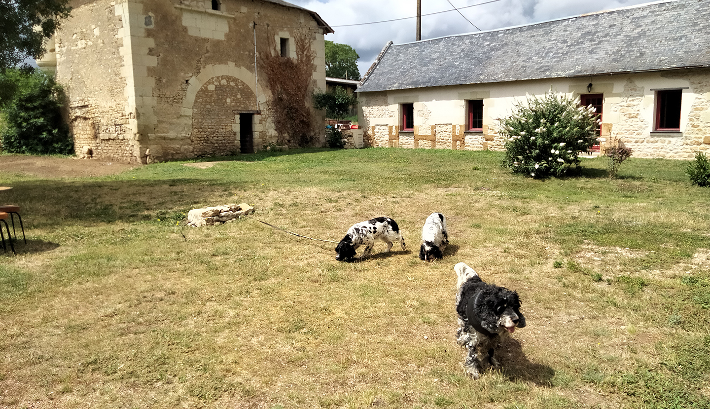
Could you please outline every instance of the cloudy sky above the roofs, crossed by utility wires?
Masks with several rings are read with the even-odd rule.
[[[286,0],[318,13],[335,33],[326,40],[344,43],[360,55],[360,74],[384,45],[416,39],[417,0]],[[451,3],[449,3],[449,1]],[[649,3],[650,0],[422,0],[422,40],[537,23],[579,14]],[[453,4],[453,5],[452,5]],[[476,6],[477,4],[480,4]],[[461,16],[454,7],[460,9]],[[465,7],[465,8],[464,8]],[[441,13],[442,11],[447,11]],[[426,16],[429,13],[437,13]],[[386,23],[359,23],[406,18]],[[466,21],[468,19],[470,21]],[[473,23],[476,27],[471,25]]]

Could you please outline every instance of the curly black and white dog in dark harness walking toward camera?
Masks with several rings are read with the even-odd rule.
[[[484,283],[466,263],[454,266],[458,276],[456,312],[459,315],[457,342],[468,349],[464,362],[466,373],[474,379],[481,377],[481,356],[488,357],[494,369],[501,366],[493,357],[502,337],[525,327],[520,312],[518,293],[498,285]]]

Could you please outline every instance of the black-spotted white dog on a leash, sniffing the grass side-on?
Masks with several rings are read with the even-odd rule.
[[[399,241],[403,250],[407,248],[397,222],[389,217],[376,217],[367,222],[353,224],[348,229],[345,237],[335,248],[337,253],[335,259],[337,261],[352,261],[359,246],[365,246],[365,251],[362,253],[362,257],[365,258],[372,252],[376,240],[387,243],[387,251],[392,249],[393,241]]]

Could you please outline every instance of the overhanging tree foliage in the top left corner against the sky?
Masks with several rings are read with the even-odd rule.
[[[44,40],[53,36],[61,18],[69,16],[69,0],[0,1],[0,71],[26,57],[41,58]]]

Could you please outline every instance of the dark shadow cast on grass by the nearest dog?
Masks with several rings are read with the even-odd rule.
[[[524,329],[523,329],[524,330]],[[555,369],[543,364],[535,364],[525,356],[523,347],[517,339],[508,338],[503,342],[496,356],[503,364],[503,374],[510,381],[525,381],[537,386],[550,386]]]

